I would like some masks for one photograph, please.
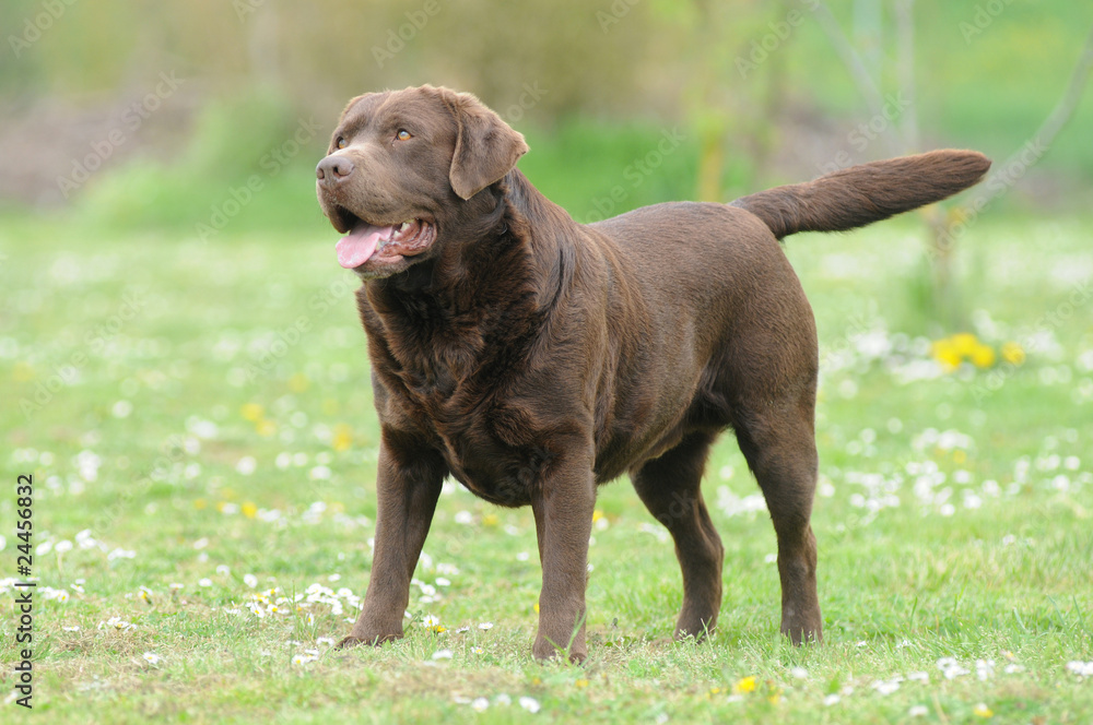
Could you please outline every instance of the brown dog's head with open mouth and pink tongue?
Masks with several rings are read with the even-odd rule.
[[[316,167],[338,261],[385,277],[430,259],[466,204],[528,151],[478,98],[422,86],[357,96]]]

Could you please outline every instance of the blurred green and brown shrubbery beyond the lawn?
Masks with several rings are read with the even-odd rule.
[[[310,171],[345,102],[422,83],[498,110],[580,221],[937,146],[997,170],[1063,98],[1093,7],[42,0],[0,26],[3,207],[185,233],[252,175],[233,229],[321,225]],[[1078,98],[991,211],[1085,209],[1091,129]]]

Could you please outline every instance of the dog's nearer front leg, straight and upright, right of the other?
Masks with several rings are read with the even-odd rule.
[[[568,652],[573,662],[587,656],[585,585],[595,506],[591,451],[567,452],[552,461],[531,497],[543,568],[539,632],[532,647],[537,659],[560,652]]]

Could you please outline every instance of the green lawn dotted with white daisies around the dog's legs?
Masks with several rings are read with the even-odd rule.
[[[824,354],[813,526],[825,643],[778,637],[774,533],[765,512],[724,506],[757,492],[726,436],[705,483],[726,545],[718,633],[671,641],[671,545],[616,482],[601,489],[590,548],[590,657],[572,667],[530,657],[530,511],[456,486],[425,545],[407,639],[327,644],[354,614],[338,590],[361,596],[367,582],[377,443],[355,284],[329,229],[202,245],[5,219],[3,470],[12,484],[34,474],[34,544],[50,543],[34,560],[35,709],[50,723],[1089,722],[1093,682],[1066,665],[1093,659],[1093,300],[1058,323],[1043,316],[1093,274],[1091,228],[984,219],[969,233],[976,332],[1027,353],[984,395],[990,370],[903,382],[889,367],[907,360],[866,352],[865,329],[890,343],[930,332],[914,219],[791,238]],[[5,490],[0,578],[15,575],[19,543]],[[58,552],[62,542],[74,546]],[[294,606],[315,583],[334,594]],[[422,602],[427,586],[437,595]],[[259,618],[248,604],[270,587],[289,601]],[[62,590],[67,601],[48,598]],[[17,661],[9,606],[4,691]],[[447,630],[423,627],[428,615]],[[99,629],[111,617],[137,628]],[[318,658],[294,662],[307,650]],[[443,650],[451,657],[434,659]],[[947,678],[944,658],[968,674]],[[984,679],[976,661],[994,661]],[[740,691],[751,677],[754,691]]]

